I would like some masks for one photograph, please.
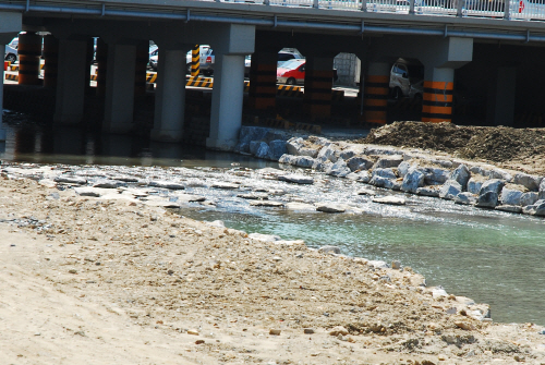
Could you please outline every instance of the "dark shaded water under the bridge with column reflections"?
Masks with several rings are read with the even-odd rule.
[[[3,149],[0,145],[0,158],[14,162],[218,168],[229,167],[232,162],[251,168],[272,165],[247,156],[210,151],[183,143],[152,142],[142,136],[100,134],[70,126],[4,126],[8,141]]]

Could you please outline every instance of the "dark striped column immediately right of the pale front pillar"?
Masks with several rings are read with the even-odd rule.
[[[250,108],[272,109],[276,106],[276,70],[278,52],[255,52],[250,66]]]

